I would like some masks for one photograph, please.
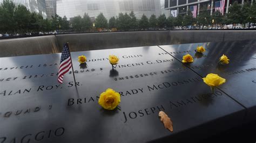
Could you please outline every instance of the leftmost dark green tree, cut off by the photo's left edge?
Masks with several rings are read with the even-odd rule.
[[[4,0],[0,6],[0,31],[13,33],[16,29],[14,18],[15,4],[12,1]]]

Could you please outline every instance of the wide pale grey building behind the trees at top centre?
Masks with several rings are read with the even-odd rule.
[[[134,12],[137,18],[146,15],[157,17],[161,14],[160,0],[57,0],[57,15],[68,19],[88,13],[90,17],[97,17],[100,12],[110,19],[118,13]]]

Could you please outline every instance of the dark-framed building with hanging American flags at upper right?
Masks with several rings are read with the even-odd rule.
[[[161,0],[162,1],[162,0]],[[231,6],[235,1],[240,4],[245,2],[253,3],[253,0],[163,0],[165,13],[171,13],[169,16],[177,17],[178,14],[186,15],[187,11],[190,10],[194,17],[200,15],[200,11],[204,8],[212,15],[214,11],[220,11],[221,13],[227,13],[228,7]],[[168,11],[168,12],[166,12]],[[170,11],[170,12],[169,12]]]

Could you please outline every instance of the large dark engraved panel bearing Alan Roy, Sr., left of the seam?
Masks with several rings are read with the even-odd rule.
[[[199,75],[162,53],[158,46],[72,52],[77,87],[72,70],[57,82],[60,54],[1,58],[0,141],[176,142],[242,123],[243,106],[221,90],[211,93]],[[120,59],[115,68],[112,54]],[[98,104],[107,88],[121,96],[112,111]],[[173,132],[159,111],[171,118]]]

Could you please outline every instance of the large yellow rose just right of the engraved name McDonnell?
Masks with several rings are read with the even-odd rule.
[[[218,87],[219,85],[226,82],[225,78],[222,78],[217,74],[207,74],[207,76],[204,77],[203,80],[210,87]]]

